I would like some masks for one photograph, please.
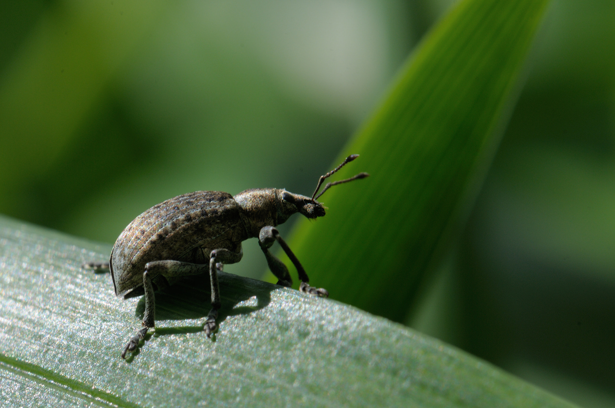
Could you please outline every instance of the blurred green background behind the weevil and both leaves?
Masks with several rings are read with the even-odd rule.
[[[113,243],[185,192],[311,194],[452,3],[2,2],[0,213]],[[407,322],[585,407],[615,406],[614,68],[615,2],[552,1]]]

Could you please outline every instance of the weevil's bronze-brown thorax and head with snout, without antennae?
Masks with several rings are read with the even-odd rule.
[[[250,237],[258,237],[261,228],[278,226],[295,213],[307,218],[325,215],[321,203],[284,189],[250,189],[233,198],[241,209],[242,221]]]

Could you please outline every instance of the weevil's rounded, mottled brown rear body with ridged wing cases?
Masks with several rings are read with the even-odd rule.
[[[117,238],[111,251],[111,276],[118,296],[143,284],[151,261],[204,264],[212,249],[239,253],[247,238],[233,197],[220,191],[178,195],[149,208]]]

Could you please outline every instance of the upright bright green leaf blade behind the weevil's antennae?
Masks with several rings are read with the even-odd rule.
[[[327,217],[293,233],[312,284],[405,321],[482,181],[546,4],[461,1],[427,35],[335,163],[360,154],[338,178],[371,177],[327,191]]]

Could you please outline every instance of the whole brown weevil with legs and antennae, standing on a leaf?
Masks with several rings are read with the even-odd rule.
[[[248,238],[258,238],[269,269],[278,278],[277,284],[291,286],[293,280],[286,265],[269,252],[275,241],[295,265],[301,280],[300,291],[329,296],[325,289],[308,284],[308,275],[276,226],[295,213],[306,218],[324,216],[325,208],[317,202],[320,195],[336,184],[369,176],[359,173],[349,179],[328,182],[316,195],[326,178],[357,157],[358,154],[349,155],[338,167],[320,176],[312,197],[285,189],[250,189],[234,197],[220,191],[196,191],[154,205],[130,222],[113,245],[109,264],[83,265],[85,269],[111,270],[117,296],[127,299],[145,295],[143,328],[125,345],[122,358],[128,351],[134,351],[148,329],[154,327],[154,291],[167,288],[180,277],[202,273],[210,276],[212,309],[204,324],[209,337],[216,329],[221,305],[218,270],[224,264],[241,260],[241,243]]]

